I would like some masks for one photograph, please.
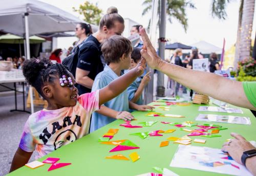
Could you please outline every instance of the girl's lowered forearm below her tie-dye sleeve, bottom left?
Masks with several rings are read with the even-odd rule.
[[[33,154],[33,152],[25,152],[23,149],[18,147],[18,149],[12,159],[12,165],[10,168],[10,172],[27,164],[32,154]]]

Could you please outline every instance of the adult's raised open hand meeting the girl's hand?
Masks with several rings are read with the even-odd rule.
[[[146,63],[153,69],[160,68],[165,62],[157,55],[155,48],[153,47],[150,39],[148,38],[144,28],[140,27],[140,35],[143,40],[143,48],[140,53],[145,58]]]

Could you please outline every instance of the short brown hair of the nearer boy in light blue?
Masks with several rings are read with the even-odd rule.
[[[132,52],[131,41],[123,36],[114,35],[101,45],[101,51],[107,64],[118,63],[123,54]]]

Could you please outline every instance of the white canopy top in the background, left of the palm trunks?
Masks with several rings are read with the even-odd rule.
[[[221,54],[222,53],[222,48],[215,46],[213,44],[210,44],[206,41],[199,41],[197,43],[190,44],[190,46],[197,47],[199,52],[202,54],[210,54],[210,53]]]

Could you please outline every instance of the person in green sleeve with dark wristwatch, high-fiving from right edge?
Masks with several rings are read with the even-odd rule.
[[[232,81],[210,72],[168,64],[157,56],[145,29],[140,29],[140,34],[144,43],[141,55],[151,68],[163,72],[168,77],[199,93],[234,106],[256,110],[256,82]],[[234,161],[246,166],[253,175],[256,175],[256,148],[241,135],[231,133],[231,136],[234,138],[224,143],[222,150],[227,152]]]

